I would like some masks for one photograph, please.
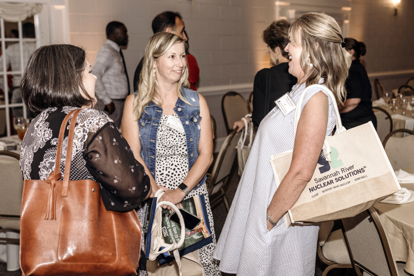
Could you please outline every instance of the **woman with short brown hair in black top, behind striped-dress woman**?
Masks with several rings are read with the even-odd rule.
[[[251,120],[258,127],[266,114],[276,106],[278,98],[292,90],[296,77],[289,74],[289,55],[284,51],[288,39],[290,23],[282,19],[274,21],[263,31],[263,41],[267,44],[267,53],[275,66],[260,70],[253,85],[253,112]],[[267,83],[268,82],[268,83]],[[268,102],[266,101],[266,97]],[[237,132],[244,127],[243,120],[234,122],[233,129]]]

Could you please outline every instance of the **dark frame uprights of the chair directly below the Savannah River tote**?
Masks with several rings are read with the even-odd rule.
[[[372,207],[369,208],[368,210],[366,210],[366,212],[368,212],[368,215],[370,216],[370,219],[372,220],[371,222],[374,223],[375,228],[377,229],[378,236],[379,236],[381,244],[383,246],[385,259],[387,260],[388,269],[390,269],[390,275],[391,276],[398,276],[395,266],[391,265],[391,264],[394,263],[394,258],[392,257],[390,245],[388,244],[387,236],[385,235],[385,230],[384,230],[384,228],[381,224],[380,219],[378,218],[378,213]],[[363,276],[361,271],[359,270],[359,268],[361,268],[361,269],[363,269],[363,270],[367,271],[368,273],[375,276],[376,275],[375,273],[373,273],[372,271],[367,269],[362,264],[359,264],[358,262],[354,261],[354,257],[352,256],[352,251],[349,248],[349,242],[348,242],[348,239],[347,239],[347,234],[345,233],[345,228],[344,228],[344,225],[342,224],[342,221],[341,221],[341,226],[342,226],[342,233],[344,234],[344,238],[345,238],[345,243],[346,243],[347,248],[348,248],[349,257],[351,257],[351,264],[352,264],[352,267],[354,268],[356,274],[358,274],[358,276]],[[358,269],[357,269],[357,267],[358,267]]]

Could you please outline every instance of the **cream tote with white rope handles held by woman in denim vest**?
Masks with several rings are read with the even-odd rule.
[[[190,252],[181,256],[178,252],[185,240],[185,223],[181,212],[175,204],[168,201],[159,202],[159,198],[164,194],[162,189],[159,189],[154,197],[157,198],[156,211],[154,222],[151,230],[151,249],[149,251],[149,258],[147,261],[147,273],[148,276],[205,276],[204,267],[200,262],[198,250]],[[181,224],[180,241],[172,244],[165,243],[162,239],[161,229],[161,206],[167,205],[176,211]],[[161,250],[161,247],[164,249]],[[170,266],[169,264],[159,265],[157,257],[159,254],[173,250],[175,262]]]

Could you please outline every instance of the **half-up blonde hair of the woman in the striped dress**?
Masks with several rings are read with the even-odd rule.
[[[346,96],[345,81],[352,58],[342,47],[344,37],[338,23],[327,14],[309,12],[292,22],[289,36],[294,46],[303,48],[301,67],[306,86],[318,84],[320,77],[335,95],[338,104]],[[308,56],[310,55],[310,56]],[[311,62],[313,67],[308,66]]]

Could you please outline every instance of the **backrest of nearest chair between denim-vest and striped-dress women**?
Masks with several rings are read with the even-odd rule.
[[[221,145],[216,162],[214,163],[211,178],[208,182],[207,190],[210,197],[217,193],[221,188],[225,187],[228,182],[227,180],[230,176],[231,167],[236,158],[236,145],[240,135],[241,132],[237,133],[236,130],[233,130]]]

